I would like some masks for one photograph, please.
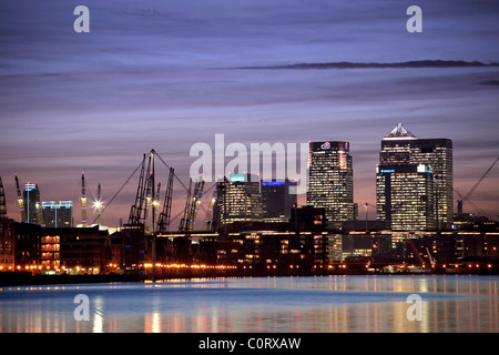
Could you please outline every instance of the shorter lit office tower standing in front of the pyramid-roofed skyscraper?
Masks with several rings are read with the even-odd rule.
[[[376,168],[378,220],[394,231],[436,229],[435,179],[429,165]]]

